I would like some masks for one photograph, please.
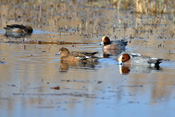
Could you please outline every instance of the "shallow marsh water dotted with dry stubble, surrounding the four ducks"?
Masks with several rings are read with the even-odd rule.
[[[136,13],[97,3],[2,0],[2,117],[175,116],[175,14]],[[3,27],[8,24],[31,25],[33,33],[7,36]],[[168,61],[159,69],[120,67],[116,56],[103,57],[103,36],[128,41],[127,51]],[[101,59],[62,63],[57,55],[61,47],[98,51]]]

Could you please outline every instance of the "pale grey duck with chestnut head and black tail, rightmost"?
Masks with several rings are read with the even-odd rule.
[[[160,58],[153,58],[132,52],[122,52],[116,57],[116,60],[119,62],[119,65],[144,65],[148,67],[159,67],[159,64],[163,61]]]

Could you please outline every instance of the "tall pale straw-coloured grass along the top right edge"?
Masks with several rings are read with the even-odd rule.
[[[174,0],[109,0],[117,9],[131,9],[141,14],[163,14],[175,11]]]

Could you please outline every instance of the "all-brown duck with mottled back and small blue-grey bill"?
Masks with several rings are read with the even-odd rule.
[[[61,55],[61,62],[97,62],[99,57],[94,56],[98,52],[70,52],[67,48],[60,48],[58,55]]]

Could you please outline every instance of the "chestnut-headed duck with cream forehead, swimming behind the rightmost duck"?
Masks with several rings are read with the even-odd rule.
[[[128,41],[125,40],[117,40],[117,41],[110,41],[109,37],[103,36],[101,45],[103,45],[103,52],[105,54],[120,54],[121,52],[125,51],[125,47]]]

